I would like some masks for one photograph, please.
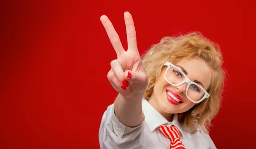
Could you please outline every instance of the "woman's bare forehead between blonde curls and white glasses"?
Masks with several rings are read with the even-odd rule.
[[[212,73],[207,63],[201,58],[182,59],[175,64],[183,67],[188,72],[187,77],[194,81],[198,80],[204,85],[204,89],[208,89]]]

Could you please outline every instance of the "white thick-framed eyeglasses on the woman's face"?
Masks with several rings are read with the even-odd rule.
[[[188,83],[186,87],[186,97],[188,97],[192,103],[200,103],[210,96],[202,86],[189,80],[186,74],[177,66],[170,62],[164,63],[164,66],[167,66],[164,78],[169,84],[172,86],[180,86],[183,83]]]

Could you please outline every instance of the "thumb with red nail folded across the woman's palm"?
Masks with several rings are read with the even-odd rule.
[[[144,72],[133,72],[131,70],[126,70],[124,72],[124,79],[128,82],[134,82],[137,86],[148,85],[148,76]]]

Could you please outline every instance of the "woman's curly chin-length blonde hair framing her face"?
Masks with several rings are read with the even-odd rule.
[[[209,98],[196,104],[189,111],[178,114],[179,122],[187,130],[195,130],[200,125],[205,133],[209,133],[211,120],[218,113],[224,90],[225,71],[223,58],[218,44],[204,37],[200,32],[191,32],[177,37],[163,37],[160,43],[154,44],[142,56],[148,75],[148,87],[144,98],[151,96],[157,77],[163,70],[163,64],[169,61],[178,63],[183,58],[200,57],[212,70],[212,78],[207,92]]]

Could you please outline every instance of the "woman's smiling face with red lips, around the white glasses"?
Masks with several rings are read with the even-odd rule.
[[[211,70],[207,63],[201,58],[183,59],[175,66],[180,68],[186,76],[195,82],[195,80],[200,81],[205,90],[208,89],[210,80],[212,77]],[[160,76],[157,77],[157,82],[154,86],[153,93],[148,100],[158,112],[162,115],[183,113],[191,109],[195,103],[192,103],[186,97],[186,87],[187,83],[183,83],[180,86],[172,86],[163,77],[167,67],[162,70]],[[199,84],[199,83],[198,83]],[[177,103],[168,94],[171,92],[178,99],[181,98],[181,103]],[[169,96],[169,97],[168,97]],[[168,100],[169,98],[169,100]]]

